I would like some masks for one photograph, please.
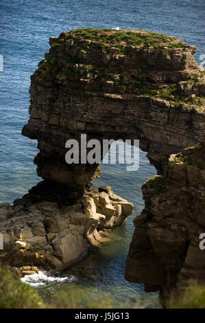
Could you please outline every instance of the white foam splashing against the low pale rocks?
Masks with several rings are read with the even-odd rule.
[[[38,271],[38,273],[33,275],[25,275],[23,278],[21,278],[21,281],[31,285],[32,287],[38,287],[47,285],[49,282],[66,282],[75,279],[75,276],[56,277],[49,276],[47,273],[43,273],[43,271]]]

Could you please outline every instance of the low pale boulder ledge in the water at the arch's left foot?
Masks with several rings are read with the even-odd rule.
[[[88,254],[89,247],[100,241],[101,230],[120,225],[133,210],[132,203],[110,186],[86,190],[74,205],[34,202],[35,191],[14,205],[0,204],[1,263],[62,270]]]

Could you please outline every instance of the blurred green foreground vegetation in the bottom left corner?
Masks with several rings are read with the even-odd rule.
[[[35,289],[14,278],[7,269],[0,268],[0,309],[101,309],[113,308],[111,300],[106,293],[101,293],[86,299],[82,304],[82,289],[71,285],[64,290],[59,289],[46,300]]]

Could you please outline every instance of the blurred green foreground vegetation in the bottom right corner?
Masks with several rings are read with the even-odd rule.
[[[169,309],[204,309],[205,308],[205,286],[197,282],[189,282],[182,288],[178,296],[171,296]]]

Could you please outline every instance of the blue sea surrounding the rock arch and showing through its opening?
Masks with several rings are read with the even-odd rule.
[[[33,163],[37,142],[21,136],[21,129],[29,118],[30,75],[49,51],[49,36],[77,27],[152,30],[197,46],[195,60],[200,63],[200,55],[204,54],[204,15],[203,0],[1,1],[0,202],[12,202],[40,181]],[[145,152],[141,152],[137,172],[126,172],[122,165],[102,165],[102,177],[95,184],[109,184],[114,192],[132,201],[134,214],[127,225],[110,234],[110,242],[97,255],[64,273],[68,280],[34,278],[43,296],[49,298],[61,287],[69,293],[74,286],[82,291],[79,306],[86,307],[86,298],[97,300],[99,294],[111,298],[113,307],[160,306],[158,293],[144,293],[142,285],[124,279],[125,257],[134,230],[132,220],[143,209],[141,185],[155,173]],[[96,279],[91,279],[92,275]]]

